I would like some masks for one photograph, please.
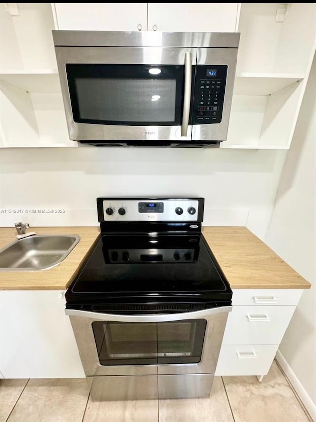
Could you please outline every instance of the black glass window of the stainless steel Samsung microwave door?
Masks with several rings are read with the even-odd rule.
[[[74,122],[181,125],[183,65],[66,64]]]

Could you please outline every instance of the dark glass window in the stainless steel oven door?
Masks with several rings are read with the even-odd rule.
[[[206,320],[92,323],[101,365],[186,364],[201,361]]]

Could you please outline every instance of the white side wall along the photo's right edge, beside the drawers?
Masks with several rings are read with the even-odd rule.
[[[265,237],[266,243],[312,284],[312,288],[303,293],[281,343],[280,351],[314,406],[316,396],[315,152],[314,60]],[[305,403],[306,406],[309,410],[313,409],[308,402],[309,400]]]

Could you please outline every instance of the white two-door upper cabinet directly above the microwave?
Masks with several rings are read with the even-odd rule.
[[[239,3],[54,3],[58,29],[235,32]]]

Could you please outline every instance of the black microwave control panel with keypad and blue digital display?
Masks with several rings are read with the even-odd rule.
[[[228,66],[217,64],[196,66],[193,125],[222,121],[227,69]]]

